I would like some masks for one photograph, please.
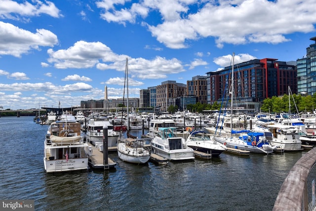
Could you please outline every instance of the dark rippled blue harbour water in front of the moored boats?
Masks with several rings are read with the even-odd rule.
[[[110,171],[46,174],[48,126],[33,117],[0,118],[0,199],[35,200],[35,210],[272,210],[289,170],[306,152],[237,156]],[[138,131],[137,133],[141,133]]]

